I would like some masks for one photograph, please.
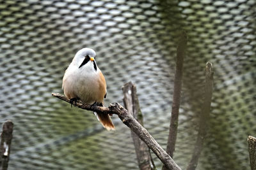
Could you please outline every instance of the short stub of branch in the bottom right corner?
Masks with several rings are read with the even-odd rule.
[[[253,136],[248,136],[247,142],[251,169],[256,170],[256,138]]]

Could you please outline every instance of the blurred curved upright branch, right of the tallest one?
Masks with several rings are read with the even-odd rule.
[[[213,86],[213,68],[212,63],[207,62],[205,67],[205,94],[204,104],[202,106],[202,113],[200,114],[198,136],[195,143],[193,155],[189,162],[187,170],[194,170],[198,164],[198,159],[204,145],[204,139],[207,133],[207,125],[209,122],[211,99],[212,99],[212,86]]]

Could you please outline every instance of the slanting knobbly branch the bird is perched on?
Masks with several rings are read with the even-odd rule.
[[[70,103],[70,100],[61,94],[52,93],[52,96],[58,97],[59,99]],[[93,111],[93,108],[90,104],[83,104],[77,101],[76,106],[84,110]],[[156,140],[148,133],[147,129],[145,129],[139,122],[137,122],[137,120],[135,120],[135,118],[132,117],[132,115],[129,114],[128,111],[119,103],[109,104],[108,108],[96,106],[94,109],[94,111],[98,113],[118,115],[120,120],[122,120],[122,122],[127,125],[127,127],[135,132],[139,136],[139,138],[148,145],[148,147],[156,154],[161,162],[163,162],[163,164],[168,167],[168,169],[180,169],[180,167],[177,166],[172,157],[170,157],[170,155],[168,155],[163,150],[163,148],[161,148],[161,146],[156,142]]]

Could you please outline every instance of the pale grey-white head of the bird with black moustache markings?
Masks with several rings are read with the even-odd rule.
[[[77,66],[79,69],[83,69],[83,67],[91,66],[97,71],[97,64],[95,62],[96,53],[91,48],[82,48],[79,50],[72,63]]]

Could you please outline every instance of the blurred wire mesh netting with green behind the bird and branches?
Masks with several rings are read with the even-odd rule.
[[[144,125],[166,148],[176,46],[188,34],[174,160],[194,148],[205,63],[214,65],[211,119],[197,169],[250,169],[256,136],[256,2],[0,0],[0,120],[14,123],[9,169],[138,169],[131,132],[51,96],[77,50],[97,53],[106,105],[136,83]],[[152,154],[157,169],[161,162]]]

